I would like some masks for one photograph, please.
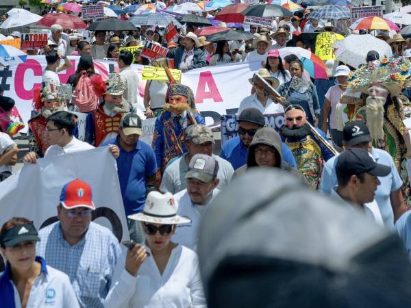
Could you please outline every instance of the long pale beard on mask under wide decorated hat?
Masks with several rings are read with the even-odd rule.
[[[385,97],[367,97],[365,106],[366,126],[371,136],[377,140],[384,139],[384,104]]]

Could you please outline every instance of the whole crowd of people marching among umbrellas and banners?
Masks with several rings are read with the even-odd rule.
[[[136,2],[118,4],[124,9],[141,4]],[[119,242],[110,229],[92,222],[99,207],[92,188],[72,179],[62,187],[57,222],[37,230],[30,217],[3,218],[1,307],[218,307],[210,305],[215,302],[209,292],[214,287],[206,285],[200,273],[208,257],[197,255],[199,238],[206,236],[201,225],[212,219],[219,229],[226,223],[216,211],[225,207],[219,194],[234,191],[236,183],[231,182],[237,177],[237,183],[256,181],[253,170],[277,172],[272,173],[278,175],[276,183],[284,175],[307,194],[329,196],[353,216],[364,216],[364,224],[395,234],[411,258],[411,128],[403,123],[411,117],[411,43],[395,31],[378,31],[375,36],[390,44],[393,57],[380,57],[371,46],[358,68],[327,60],[329,79],[315,79],[301,56],[283,56],[280,50],[311,51],[312,44],[299,38],[302,33],[351,32],[347,21],[310,18],[312,10],[301,5],[303,10],[275,18],[270,28],[234,27],[253,34],[250,40],[208,42],[195,34],[200,28],[190,24],[178,29],[171,42],[156,25],[141,25],[136,31],[50,27],[47,46],[40,51],[47,66],[42,86],[34,89],[34,110],[27,123],[29,153],[23,162],[37,164],[38,159],[106,147],[116,160],[130,241]],[[55,9],[47,6],[42,15]],[[215,16],[218,10],[201,14]],[[167,47],[166,57],[148,60],[139,51],[121,49],[145,42]],[[77,56],[78,62],[64,84],[58,73],[72,67],[68,56]],[[114,61],[110,63],[119,69],[110,70],[104,80],[94,60]],[[195,89],[173,80],[149,80],[140,97],[142,80],[133,67],[176,68],[184,74],[236,62],[257,63],[258,70],[249,79],[249,95],[238,101],[237,135],[222,144],[220,153],[216,134],[196,108]],[[7,129],[16,105],[7,93],[0,94],[0,187],[5,188],[10,177],[18,176],[12,168],[18,146]],[[73,112],[86,114],[84,140]],[[272,114],[284,115],[281,128],[267,125],[266,116]],[[140,140],[146,118],[155,118],[151,144]],[[271,185],[263,177],[258,181]],[[240,190],[242,186],[232,198],[254,193]],[[206,223],[209,213],[217,216],[209,216]],[[242,218],[244,224],[247,219]],[[229,224],[224,228],[227,231]],[[235,307],[247,307],[245,303]]]

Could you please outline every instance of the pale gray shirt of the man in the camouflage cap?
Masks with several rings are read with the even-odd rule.
[[[186,163],[187,153],[169,162],[167,168],[164,170],[160,190],[162,192],[171,192],[176,194],[187,188],[186,174],[188,172],[188,165]],[[218,188],[221,189],[231,181],[234,175],[234,169],[227,162],[227,160],[212,155],[219,164],[219,171],[217,172],[217,179],[220,180]]]

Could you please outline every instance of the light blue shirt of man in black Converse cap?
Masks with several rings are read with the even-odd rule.
[[[402,186],[401,177],[398,174],[395,167],[393,157],[384,150],[375,149],[371,151],[375,161],[378,164],[390,166],[391,172],[386,177],[378,177],[381,182],[377,186],[375,192],[375,201],[377,201],[379,211],[382,214],[384,225],[390,229],[394,226],[394,212],[391,207],[390,194],[395,190],[399,190]],[[321,182],[319,185],[319,191],[324,194],[331,194],[332,188],[337,185],[336,164],[338,162],[338,156],[330,158],[327,163],[324,164],[323,174],[321,175]]]

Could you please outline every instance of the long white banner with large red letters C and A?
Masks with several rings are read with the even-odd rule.
[[[66,83],[69,76],[75,73],[79,57],[69,57],[73,67],[58,73],[60,81]],[[116,62],[95,60],[95,70],[108,78],[110,64],[119,70]],[[29,56],[27,62],[0,68],[0,86],[4,95],[16,101],[18,111],[27,124],[33,109],[33,90],[40,88],[42,73],[46,67],[44,55]],[[134,70],[142,73],[143,66],[133,64]],[[197,109],[206,116],[207,124],[213,127],[220,125],[220,116],[236,110],[240,101],[251,94],[251,84],[248,79],[261,68],[259,62],[228,64],[223,66],[208,66],[197,70],[189,70],[182,75],[182,84],[190,86],[195,93]],[[138,109],[145,110],[142,103],[145,81],[140,78],[138,85]],[[27,131],[27,125],[26,129]]]

